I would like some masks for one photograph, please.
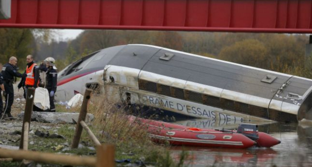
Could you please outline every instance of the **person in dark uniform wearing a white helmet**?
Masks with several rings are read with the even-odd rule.
[[[50,112],[55,112],[55,105],[54,105],[54,94],[56,92],[56,84],[57,84],[57,71],[55,67],[55,60],[53,57],[45,58],[45,65],[38,67],[42,71],[46,71],[46,84],[45,88],[49,92],[49,99],[50,99]]]

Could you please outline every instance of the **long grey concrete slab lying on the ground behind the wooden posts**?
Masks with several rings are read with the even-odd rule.
[[[19,118],[24,117],[24,112],[17,115]],[[39,122],[50,122],[50,123],[73,123],[78,120],[79,113],[70,112],[36,112],[32,113],[32,121]],[[88,113],[86,117],[86,122],[92,121],[94,119],[93,114]]]

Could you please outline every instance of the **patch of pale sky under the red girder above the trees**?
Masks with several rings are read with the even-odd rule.
[[[83,31],[81,29],[56,29],[54,38],[57,41],[73,40]]]

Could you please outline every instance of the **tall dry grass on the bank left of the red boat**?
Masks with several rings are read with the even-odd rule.
[[[175,162],[168,146],[153,143],[144,128],[128,121],[123,108],[109,104],[107,99],[94,98],[88,112],[94,114],[90,128],[100,132],[96,136],[101,143],[116,145],[116,159],[143,161],[157,167],[182,167],[187,154],[183,152],[181,159]]]

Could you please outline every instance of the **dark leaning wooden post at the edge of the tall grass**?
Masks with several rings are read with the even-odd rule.
[[[80,137],[81,137],[81,133],[83,130],[83,127],[81,126],[80,122],[83,120],[86,120],[86,116],[87,116],[87,109],[88,109],[88,104],[89,104],[89,100],[90,100],[90,96],[91,96],[91,89],[86,89],[85,92],[85,96],[84,96],[84,101],[83,104],[81,106],[80,109],[80,113],[79,113],[79,117],[78,117],[78,123],[76,125],[76,131],[75,131],[75,135],[74,135],[74,139],[73,139],[73,143],[72,143],[72,148],[78,148],[79,145],[79,141],[80,141]]]

